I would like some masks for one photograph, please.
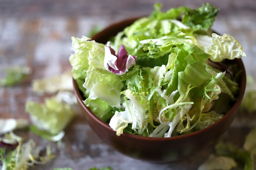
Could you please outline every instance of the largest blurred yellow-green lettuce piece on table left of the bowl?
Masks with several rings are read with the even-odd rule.
[[[28,101],[25,109],[30,115],[32,124],[53,135],[64,130],[76,115],[76,110],[72,105],[58,96],[46,98],[45,103]]]

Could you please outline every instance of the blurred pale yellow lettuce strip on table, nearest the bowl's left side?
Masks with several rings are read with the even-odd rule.
[[[72,73],[68,70],[61,75],[34,79],[32,87],[33,91],[38,94],[73,91]]]

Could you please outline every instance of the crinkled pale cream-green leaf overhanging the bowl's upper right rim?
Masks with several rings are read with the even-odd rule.
[[[198,35],[196,39],[198,46],[205,53],[211,55],[210,60],[213,62],[221,62],[225,59],[234,60],[246,56],[240,42],[229,34],[212,33],[211,37]]]

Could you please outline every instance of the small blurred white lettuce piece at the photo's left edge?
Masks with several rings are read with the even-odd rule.
[[[30,122],[27,119],[2,119],[0,118],[0,135],[16,129],[28,127]]]

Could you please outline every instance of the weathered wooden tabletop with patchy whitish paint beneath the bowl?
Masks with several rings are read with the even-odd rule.
[[[29,66],[29,78],[12,87],[0,88],[0,117],[25,118],[25,103],[42,102],[44,96],[32,91],[31,81],[59,75],[70,69],[71,36],[88,36],[95,26],[104,27],[125,18],[147,15],[154,0],[0,0],[0,68]],[[244,47],[247,74],[256,78],[256,1],[255,0],[160,0],[163,10],[180,5],[199,7],[211,2],[220,8],[213,29],[233,35]],[[0,77],[2,73],[0,72]],[[256,115],[238,113],[222,140],[243,144],[246,133],[256,126]],[[1,127],[0,127],[1,128]],[[47,142],[31,132],[27,137],[40,145]],[[74,170],[110,166],[113,170],[195,170],[209,150],[182,162],[152,164],[135,160],[104,144],[78,113],[67,127],[56,158],[31,170],[70,167]],[[203,159],[202,159],[203,158]]]

